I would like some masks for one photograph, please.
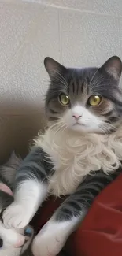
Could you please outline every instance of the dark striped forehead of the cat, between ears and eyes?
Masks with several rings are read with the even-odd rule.
[[[70,95],[99,94],[105,96],[114,87],[111,77],[100,72],[98,68],[68,69],[67,74],[64,75],[68,85],[66,90]]]

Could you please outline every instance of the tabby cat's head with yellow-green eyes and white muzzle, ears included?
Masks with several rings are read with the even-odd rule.
[[[45,58],[50,76],[46,115],[76,132],[112,132],[122,117],[120,58],[109,58],[100,68],[72,69]]]

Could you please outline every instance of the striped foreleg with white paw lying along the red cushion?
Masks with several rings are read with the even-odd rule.
[[[55,256],[65,245],[87,214],[87,210],[98,193],[113,180],[104,173],[87,176],[76,192],[70,195],[56,210],[53,217],[35,236],[32,251],[35,256]]]

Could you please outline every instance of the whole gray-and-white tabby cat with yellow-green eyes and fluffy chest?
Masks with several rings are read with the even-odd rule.
[[[32,246],[35,256],[55,256],[94,197],[120,173],[122,63],[113,56],[100,68],[68,69],[51,58],[44,64],[49,126],[17,171],[15,200],[3,220],[23,228],[48,195],[68,195]]]

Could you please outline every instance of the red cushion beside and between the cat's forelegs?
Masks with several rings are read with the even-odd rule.
[[[47,201],[38,227],[50,218],[61,199]],[[122,175],[95,199],[87,217],[67,243],[71,256],[122,256]]]

